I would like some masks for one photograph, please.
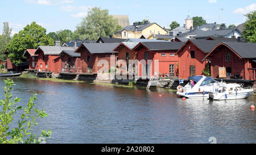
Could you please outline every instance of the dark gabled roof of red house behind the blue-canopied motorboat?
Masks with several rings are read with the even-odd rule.
[[[221,41],[215,41],[215,40],[195,40],[195,39],[189,39],[180,49],[178,52],[181,51],[181,49],[183,49],[183,47],[187,44],[187,43],[192,43],[194,44],[197,48],[199,48],[202,52],[204,53],[209,53],[210,51],[212,51],[212,49],[214,47],[216,47],[216,45],[218,45]],[[178,42],[179,43],[179,42]],[[182,42],[181,42],[182,43]]]

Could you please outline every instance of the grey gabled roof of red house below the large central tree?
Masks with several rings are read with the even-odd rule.
[[[119,45],[120,43],[86,43],[81,44],[79,48],[76,49],[75,53],[77,53],[77,50],[81,47],[85,47],[91,54],[94,53],[117,53],[113,52],[113,50]]]

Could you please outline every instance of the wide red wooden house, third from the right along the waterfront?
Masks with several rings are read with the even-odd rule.
[[[137,55],[138,76],[177,76],[179,57],[176,52],[184,42],[144,42],[133,48]],[[145,60],[145,62],[143,62]],[[151,64],[147,60],[152,60]],[[155,62],[155,60],[157,60]],[[158,63],[158,64],[157,64]]]

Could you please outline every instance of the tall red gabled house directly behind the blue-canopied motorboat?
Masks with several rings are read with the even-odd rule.
[[[187,79],[191,76],[201,76],[207,61],[204,57],[212,51],[220,41],[188,40],[177,51],[179,56],[179,78]]]

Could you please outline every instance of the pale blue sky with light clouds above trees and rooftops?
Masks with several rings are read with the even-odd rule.
[[[108,9],[112,15],[129,15],[130,24],[148,15],[150,22],[162,27],[168,27],[174,20],[183,26],[188,14],[203,16],[207,23],[240,24],[245,22],[243,14],[256,10],[255,0],[1,0],[0,23],[9,22],[13,33],[33,21],[46,28],[47,33],[64,29],[74,31],[86,12],[95,6]]]

